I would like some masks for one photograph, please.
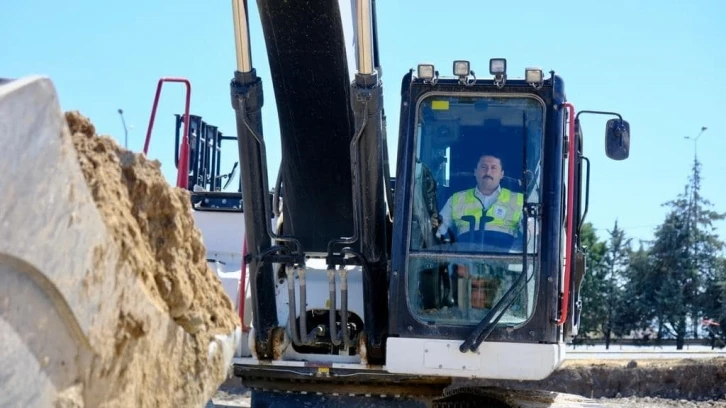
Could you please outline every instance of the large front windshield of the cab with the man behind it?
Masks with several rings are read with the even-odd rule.
[[[407,269],[419,320],[476,325],[523,273],[499,323],[531,316],[544,111],[533,95],[419,100]]]

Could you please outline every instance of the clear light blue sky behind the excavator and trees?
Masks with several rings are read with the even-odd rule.
[[[726,211],[726,2],[614,0],[379,1],[379,42],[395,166],[400,78],[418,62],[448,70],[469,59],[488,74],[490,57],[506,57],[512,76],[527,66],[554,69],[578,109],[617,110],[631,123],[631,157],[604,153],[606,118],[584,117],[592,161],[588,219],[604,234],[618,219],[630,236],[650,238],[661,206],[683,191],[694,136],[703,163],[702,194]],[[270,177],[279,163],[274,95],[255,2],[251,2],[253,64],[265,79],[263,110]],[[721,44],[721,45],[719,45]],[[62,107],[89,116],[98,131],[123,143],[117,114],[132,126],[129,148],[140,151],[161,76],[192,82],[192,111],[235,133],[229,80],[235,69],[229,1],[7,2],[0,13],[0,74],[46,74]],[[174,113],[183,111],[178,84],[165,89],[150,156],[173,182]],[[721,116],[721,119],[719,119]],[[231,168],[235,149],[227,156]],[[726,238],[726,223],[719,224]]]

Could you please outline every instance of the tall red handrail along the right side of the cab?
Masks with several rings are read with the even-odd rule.
[[[562,309],[560,309],[560,318],[557,324],[561,325],[567,320],[567,312],[570,306],[570,275],[572,271],[572,239],[575,233],[575,106],[566,102],[565,108],[569,112],[569,127],[567,140],[569,141],[568,150],[568,169],[567,169],[567,248],[565,249],[565,285],[562,294]]]

